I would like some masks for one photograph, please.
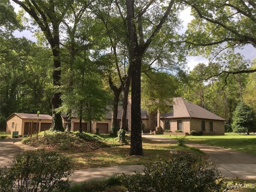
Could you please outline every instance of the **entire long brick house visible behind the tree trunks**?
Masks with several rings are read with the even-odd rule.
[[[168,129],[172,132],[182,130],[184,133],[190,133],[191,130],[204,132],[206,134],[224,135],[225,120],[212,112],[186,101],[184,98],[173,98],[173,106],[170,113],[149,113],[147,110],[141,110],[141,122],[145,125],[144,132],[150,130],[162,134]],[[122,116],[122,106],[118,106],[118,128],[120,128]],[[92,133],[99,129],[99,133],[107,134],[111,128],[112,113],[108,112],[106,118],[102,121],[92,121]],[[66,114],[62,115],[63,126],[66,127]],[[160,123],[159,123],[160,122]],[[131,99],[128,99],[126,130],[131,131]],[[79,118],[76,116],[71,119],[71,131],[79,130]],[[89,122],[82,122],[82,131],[89,132]]]

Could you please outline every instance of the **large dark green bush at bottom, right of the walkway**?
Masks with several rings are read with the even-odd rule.
[[[123,174],[123,177],[129,192],[215,192],[225,188],[224,176],[214,166],[184,152],[147,165],[142,174]]]

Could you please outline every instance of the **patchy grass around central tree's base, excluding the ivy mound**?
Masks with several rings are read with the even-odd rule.
[[[143,165],[148,162],[167,160],[171,150],[179,150],[206,156],[202,151],[192,147],[157,143],[143,138],[144,156],[130,156],[130,145],[98,148],[93,151],[61,151],[74,162],[74,169],[88,169],[110,166]]]

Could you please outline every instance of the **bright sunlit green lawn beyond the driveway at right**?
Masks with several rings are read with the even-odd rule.
[[[157,135],[166,138],[177,139],[182,136]],[[256,155],[256,134],[225,133],[225,135],[212,136],[186,136],[186,141],[200,144],[229,148],[240,152]]]

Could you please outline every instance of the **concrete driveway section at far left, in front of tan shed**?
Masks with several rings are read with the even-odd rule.
[[[12,166],[14,156],[23,152],[22,148],[14,145],[14,142],[20,141],[22,138],[0,139],[0,166]]]

